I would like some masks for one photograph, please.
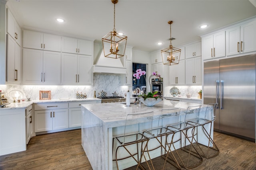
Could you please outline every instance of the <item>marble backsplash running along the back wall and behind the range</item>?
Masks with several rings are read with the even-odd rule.
[[[107,96],[113,96],[117,92],[118,96],[125,96],[128,86],[123,86],[122,75],[120,74],[94,74],[93,86],[34,86],[34,85],[0,85],[0,90],[7,93],[10,89],[23,90],[31,100],[39,100],[40,90],[50,90],[52,99],[76,98],[76,93],[86,94],[87,98],[96,97],[100,91],[107,92]]]

